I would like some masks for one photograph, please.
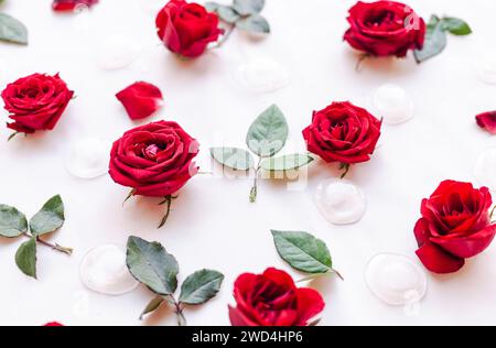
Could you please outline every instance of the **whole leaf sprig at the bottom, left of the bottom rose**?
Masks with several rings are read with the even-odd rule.
[[[224,275],[204,269],[184,280],[176,300],[179,264],[175,258],[159,242],[148,242],[139,237],[129,237],[127,249],[126,263],[132,276],[157,295],[141,313],[140,319],[169,303],[174,307],[177,325],[184,326],[184,306],[204,304],[220,290]]]

